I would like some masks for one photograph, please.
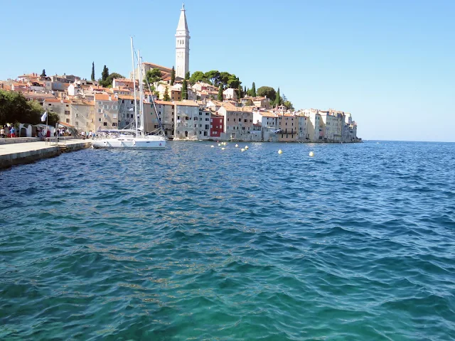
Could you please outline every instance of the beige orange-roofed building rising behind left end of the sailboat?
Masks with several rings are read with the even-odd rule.
[[[118,129],[119,127],[118,99],[111,94],[95,93],[94,102],[96,130]]]

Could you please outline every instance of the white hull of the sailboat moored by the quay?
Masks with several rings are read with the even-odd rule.
[[[104,149],[164,149],[166,148],[166,140],[162,138],[119,137],[94,140],[92,146],[93,148]]]

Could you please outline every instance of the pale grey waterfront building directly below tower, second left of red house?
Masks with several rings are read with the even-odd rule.
[[[198,139],[199,104],[189,100],[174,104],[174,138]]]

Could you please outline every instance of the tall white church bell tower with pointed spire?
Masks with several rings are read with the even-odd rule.
[[[190,38],[183,4],[176,31],[176,77],[185,78],[186,72],[190,70]]]

